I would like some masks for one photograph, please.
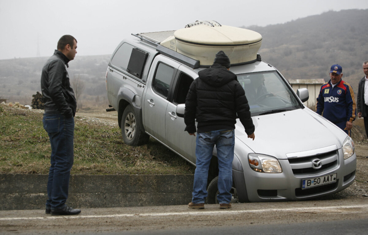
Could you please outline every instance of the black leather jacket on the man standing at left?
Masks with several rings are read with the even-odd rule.
[[[42,69],[41,90],[45,113],[61,113],[70,118],[75,115],[77,101],[70,86],[68,71],[69,59],[55,50]]]

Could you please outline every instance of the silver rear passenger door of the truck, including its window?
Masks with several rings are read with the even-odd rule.
[[[164,144],[167,144],[165,122],[168,97],[179,66],[174,60],[157,56],[144,96],[142,113],[145,130]]]

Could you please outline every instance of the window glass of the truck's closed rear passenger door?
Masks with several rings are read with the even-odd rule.
[[[167,98],[169,93],[170,83],[173,79],[174,68],[166,64],[159,63],[157,66],[155,77],[153,78],[153,90],[158,94]]]

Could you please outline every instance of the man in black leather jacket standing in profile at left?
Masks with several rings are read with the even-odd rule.
[[[74,162],[74,115],[77,102],[71,88],[68,62],[77,53],[77,40],[64,35],[42,69],[41,90],[45,112],[43,127],[50,138],[51,165],[47,182],[46,214],[75,215],[81,210],[67,206],[70,170]]]

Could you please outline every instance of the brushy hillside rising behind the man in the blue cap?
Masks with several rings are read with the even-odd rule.
[[[343,80],[357,92],[368,60],[368,9],[328,11],[285,24],[246,27],[259,32],[262,60],[287,78],[329,80],[332,64],[343,67]]]

